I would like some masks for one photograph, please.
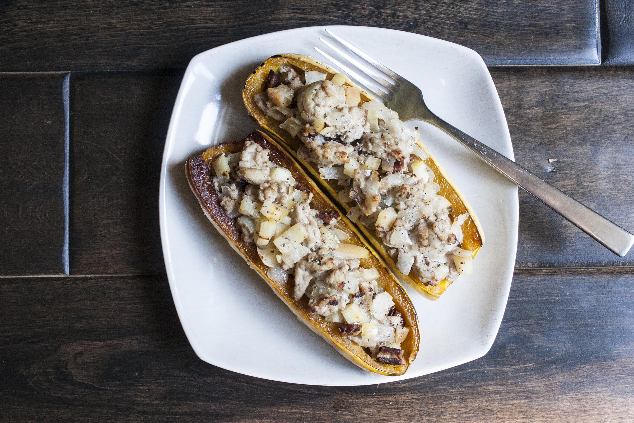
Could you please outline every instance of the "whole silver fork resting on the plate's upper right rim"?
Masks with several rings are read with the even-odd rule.
[[[623,257],[630,251],[634,244],[634,235],[630,232],[440,119],[427,108],[423,93],[417,86],[378,63],[351,41],[328,29],[326,33],[327,36],[321,37],[320,41],[328,46],[328,53],[318,47],[315,47],[316,51],[343,70],[358,86],[384,100],[387,107],[398,112],[399,119],[418,119],[439,127],[486,164],[571,221],[614,254]]]

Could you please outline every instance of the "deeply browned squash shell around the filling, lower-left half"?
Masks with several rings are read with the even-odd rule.
[[[340,223],[338,227],[349,235],[350,238],[346,240],[346,242],[368,247],[372,254],[370,254],[368,259],[361,259],[361,266],[365,268],[377,268],[380,273],[380,277],[377,280],[378,285],[389,292],[393,297],[396,307],[403,315],[406,327],[410,328],[410,334],[408,334],[405,341],[401,343],[403,356],[405,358],[404,365],[377,363],[377,361],[373,360],[358,344],[347,339],[347,337],[342,337],[342,335],[339,334],[337,323],[326,322],[323,316],[310,313],[306,296],[302,297],[299,301],[294,301],[293,279],[289,277],[288,282],[284,285],[273,282],[273,280],[266,275],[268,267],[262,263],[258,256],[256,245],[252,242],[242,240],[240,232],[235,227],[235,218],[230,218],[223,207],[221,207],[217,192],[211,183],[213,177],[211,162],[221,153],[239,152],[247,140],[254,141],[263,148],[268,148],[270,150],[269,159],[278,166],[286,167],[291,171],[295,181],[297,181],[297,188],[313,192],[314,197],[311,201],[311,207],[313,207],[313,209],[327,214],[341,214],[327,195],[318,188],[301,166],[299,166],[292,157],[289,157],[276,141],[261,131],[254,131],[254,133],[242,141],[212,146],[202,153],[202,155],[191,157],[186,161],[185,172],[190,183],[190,188],[196,195],[198,202],[200,202],[207,218],[209,218],[224,238],[228,240],[231,247],[249,263],[249,266],[268,283],[275,294],[297,315],[297,318],[313,330],[313,332],[328,341],[339,353],[368,372],[390,376],[404,374],[418,353],[420,334],[416,311],[403,286],[398,282],[397,278],[392,275],[384,261],[377,257],[372,247],[368,247],[363,237],[357,233],[354,225],[352,225],[345,216],[342,216],[342,223]]]

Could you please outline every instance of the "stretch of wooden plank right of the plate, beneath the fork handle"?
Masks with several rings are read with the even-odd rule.
[[[515,160],[634,232],[634,72],[495,68]],[[550,162],[551,159],[557,159]],[[631,266],[521,191],[517,268]]]

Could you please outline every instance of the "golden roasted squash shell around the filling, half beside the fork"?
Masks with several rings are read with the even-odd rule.
[[[327,192],[332,198],[333,202],[337,204],[342,211],[349,211],[350,206],[347,204],[343,204],[339,201],[337,196],[337,185],[335,181],[328,181],[321,179],[320,174],[317,170],[317,167],[310,162],[307,162],[304,159],[297,157],[295,152],[297,152],[297,148],[301,145],[301,141],[298,138],[292,138],[290,134],[287,133],[284,129],[280,128],[280,124],[282,122],[273,119],[272,117],[267,116],[257,107],[256,103],[253,100],[253,96],[255,94],[261,93],[264,91],[264,86],[266,81],[266,75],[268,75],[269,70],[273,70],[276,72],[281,65],[290,65],[294,67],[296,70],[301,70],[302,72],[306,72],[307,70],[317,70],[321,73],[325,73],[326,79],[330,81],[332,77],[335,75],[336,71],[332,68],[328,67],[324,63],[315,60],[312,57],[304,56],[304,55],[296,55],[296,54],[282,54],[275,55],[271,58],[268,58],[264,61],[259,67],[249,75],[247,81],[245,82],[245,86],[242,91],[242,100],[247,107],[247,111],[249,112],[249,116],[255,120],[259,126],[263,127],[267,131],[269,131],[273,137],[280,141],[280,143],[285,146],[287,152],[294,155],[294,158],[298,160],[302,166],[313,176],[313,178],[318,181],[320,186]],[[347,81],[345,83],[349,86],[355,86],[352,82]],[[361,90],[361,102],[359,104],[365,103],[366,101],[375,100],[371,94],[366,93]],[[467,199],[464,197],[462,192],[458,189],[455,182],[450,178],[447,172],[444,170],[443,166],[437,162],[431,152],[427,149],[425,145],[420,143],[420,146],[424,148],[425,152],[429,155],[429,158],[425,159],[425,163],[429,166],[435,174],[434,182],[441,186],[441,190],[439,191],[439,195],[443,195],[451,202],[451,208],[453,209],[453,216],[459,216],[462,213],[469,212],[469,218],[462,225],[462,230],[464,233],[463,240],[463,249],[467,249],[473,251],[473,257],[477,254],[477,252],[481,249],[484,244],[484,231],[482,230],[482,226],[475,216],[475,212],[472,207],[467,202]],[[392,257],[390,257],[385,251],[384,247],[380,240],[375,237],[375,233],[373,228],[367,228],[365,225],[361,223],[354,223],[356,228],[363,233],[368,242],[375,247],[375,249],[379,252],[380,256],[385,260],[386,263],[392,268],[392,271],[398,275],[401,280],[406,282],[410,287],[417,290],[420,294],[436,301],[440,298],[440,296],[445,292],[445,290],[451,285],[451,282],[444,279],[436,286],[425,285],[414,270],[410,271],[409,275],[403,275],[398,271],[396,263]]]

